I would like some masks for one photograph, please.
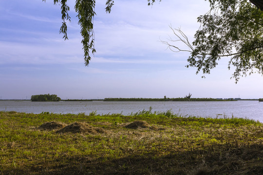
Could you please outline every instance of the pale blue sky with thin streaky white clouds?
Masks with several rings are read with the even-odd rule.
[[[97,0],[96,53],[84,64],[80,27],[68,0],[68,38],[59,34],[59,5],[53,0],[0,0],[0,99],[30,99],[56,94],[61,99],[104,98],[262,98],[263,77],[230,79],[229,58],[206,78],[186,68],[189,53],[174,53],[161,41],[175,39],[170,27],[194,40],[197,17],[209,10],[205,0]],[[180,43],[178,46],[184,47]]]

